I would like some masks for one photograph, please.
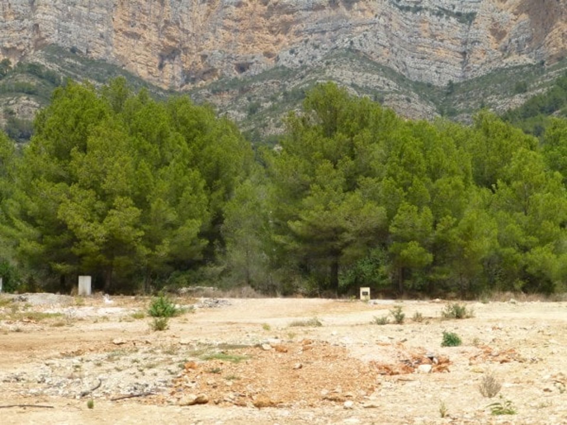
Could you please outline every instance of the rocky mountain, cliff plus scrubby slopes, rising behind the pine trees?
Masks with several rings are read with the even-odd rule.
[[[466,121],[481,106],[520,104],[567,66],[567,0],[10,0],[0,15],[0,59],[79,80],[92,77],[74,61],[103,61],[262,133],[277,132],[274,104],[297,106],[321,80],[411,118]],[[52,46],[76,57],[48,58]],[[490,75],[526,80],[526,90],[491,99],[472,87],[456,99],[459,84]]]

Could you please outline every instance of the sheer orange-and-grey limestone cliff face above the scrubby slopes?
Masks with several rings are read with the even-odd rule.
[[[438,86],[567,52],[567,0],[3,0],[0,58],[47,44],[183,89],[358,50]]]

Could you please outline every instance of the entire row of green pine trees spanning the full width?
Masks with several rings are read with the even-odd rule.
[[[22,152],[0,135],[0,273],[63,290],[78,274],[108,291],[565,290],[565,120],[541,141],[487,111],[409,121],[327,83],[285,122],[254,163],[187,97],[67,83]]]

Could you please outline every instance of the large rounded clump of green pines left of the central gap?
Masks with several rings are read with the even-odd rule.
[[[60,279],[94,274],[105,290],[194,267],[251,160],[234,125],[186,98],[69,83],[18,164],[18,257]]]

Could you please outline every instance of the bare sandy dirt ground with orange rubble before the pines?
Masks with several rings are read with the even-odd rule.
[[[440,300],[176,302],[193,311],[155,332],[149,298],[0,296],[0,422],[567,424],[565,302],[467,303],[463,320]],[[373,323],[395,305],[403,324]]]

